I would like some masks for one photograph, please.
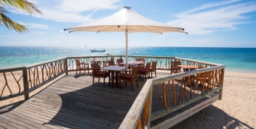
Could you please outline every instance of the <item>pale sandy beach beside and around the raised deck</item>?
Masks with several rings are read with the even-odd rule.
[[[0,107],[23,99],[2,101]],[[256,128],[256,74],[225,71],[222,100],[172,128]]]

